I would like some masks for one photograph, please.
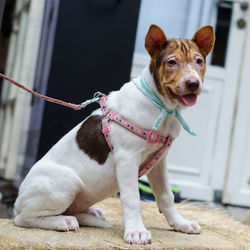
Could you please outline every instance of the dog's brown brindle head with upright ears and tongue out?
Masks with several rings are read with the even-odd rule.
[[[158,91],[173,105],[192,106],[201,92],[206,56],[215,41],[213,27],[198,29],[193,38],[168,40],[162,29],[151,25],[145,48],[151,56],[150,71]]]

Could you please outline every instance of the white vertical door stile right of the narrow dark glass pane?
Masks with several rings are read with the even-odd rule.
[[[225,64],[225,83],[223,98],[221,101],[221,112],[218,122],[216,148],[211,185],[215,190],[224,191],[224,184],[227,177],[230,161],[230,151],[232,145],[232,131],[235,123],[235,109],[237,93],[239,91],[238,82],[241,77],[242,60],[246,41],[246,29],[239,29],[237,21],[239,18],[246,19],[247,12],[240,8],[240,2],[233,3],[233,13],[231,19],[230,33],[228,39],[228,49]],[[237,53],[236,53],[237,51]],[[226,124],[226,126],[225,126]]]

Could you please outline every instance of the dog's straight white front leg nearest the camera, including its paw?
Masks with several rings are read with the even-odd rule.
[[[116,152],[116,175],[123,210],[124,240],[131,244],[151,243],[151,233],[142,221],[138,190],[138,154]]]

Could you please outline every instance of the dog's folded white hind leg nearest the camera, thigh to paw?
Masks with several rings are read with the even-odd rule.
[[[51,169],[53,168],[53,171]],[[36,227],[59,231],[77,230],[74,216],[63,215],[82,190],[82,182],[69,169],[51,166],[47,171],[31,173],[20,187],[15,203],[14,223],[20,227]],[[58,174],[60,173],[60,174]],[[31,181],[32,180],[32,181]]]

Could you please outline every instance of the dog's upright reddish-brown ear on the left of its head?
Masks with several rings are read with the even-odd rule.
[[[145,48],[149,55],[153,57],[156,53],[159,53],[167,40],[163,30],[159,26],[152,24],[145,37]]]

